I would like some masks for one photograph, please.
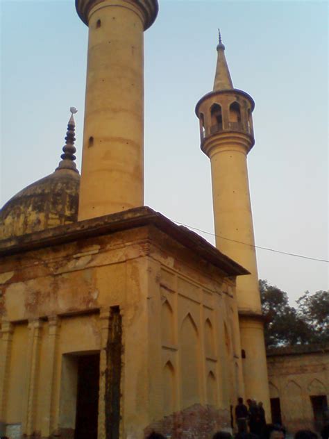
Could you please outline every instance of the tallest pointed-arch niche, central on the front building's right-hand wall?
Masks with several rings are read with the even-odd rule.
[[[200,402],[199,389],[199,333],[191,314],[187,314],[180,328],[180,367],[183,408]]]

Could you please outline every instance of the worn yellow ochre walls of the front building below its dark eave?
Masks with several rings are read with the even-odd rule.
[[[234,358],[235,279],[183,250],[142,227],[2,259],[0,421],[7,433],[68,438],[74,355],[101,351],[105,437],[111,306],[119,306],[123,325],[120,438],[144,438],[154,427],[169,433],[173,413],[191,406],[212,413],[214,430],[230,426],[229,406],[242,386],[235,382],[242,374]]]

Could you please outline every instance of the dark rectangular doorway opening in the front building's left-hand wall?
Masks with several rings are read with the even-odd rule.
[[[99,354],[78,357],[78,392],[74,439],[97,439]]]

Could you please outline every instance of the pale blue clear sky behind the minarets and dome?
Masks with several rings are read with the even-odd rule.
[[[1,203],[53,172],[76,106],[81,169],[87,27],[74,0],[1,4]],[[212,90],[217,28],[256,107],[248,156],[256,244],[328,259],[328,4],[166,1],[145,33],[145,201],[214,233],[196,102]],[[201,233],[210,242],[212,235]],[[294,299],[328,289],[328,264],[258,250],[261,279]]]

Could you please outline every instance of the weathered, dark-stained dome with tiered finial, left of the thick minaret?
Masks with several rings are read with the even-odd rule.
[[[80,174],[74,160],[74,117],[71,107],[66,144],[56,171],[12,197],[0,210],[0,239],[12,238],[78,221]]]

